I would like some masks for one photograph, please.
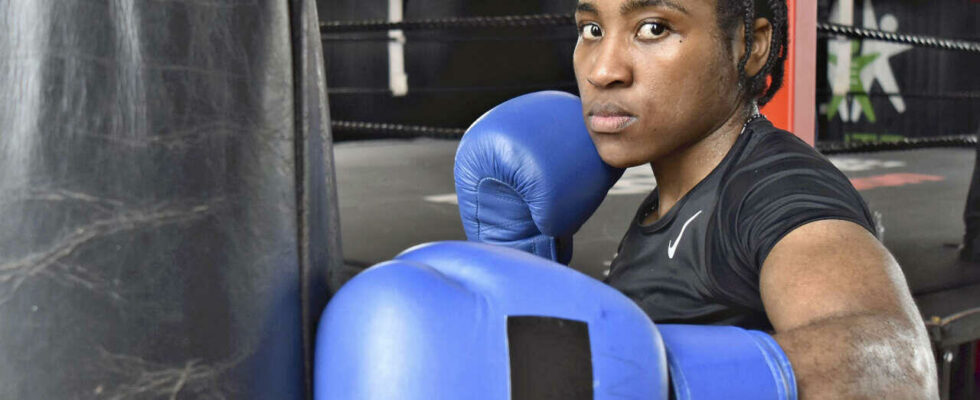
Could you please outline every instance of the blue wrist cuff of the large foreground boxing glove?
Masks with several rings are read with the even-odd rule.
[[[658,325],[677,400],[795,400],[789,359],[768,334],[733,326]]]

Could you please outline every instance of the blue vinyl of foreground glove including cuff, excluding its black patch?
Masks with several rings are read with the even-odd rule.
[[[795,400],[771,336],[728,326],[655,327],[584,274],[503,246],[409,249],[347,283],[320,319],[315,400],[511,398],[507,319],[588,327],[593,398]],[[533,377],[532,377],[533,379]]]

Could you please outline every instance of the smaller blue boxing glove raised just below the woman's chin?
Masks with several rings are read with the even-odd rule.
[[[469,240],[567,264],[572,235],[623,170],[599,158],[581,101],[546,91],[504,102],[474,122],[454,172]]]

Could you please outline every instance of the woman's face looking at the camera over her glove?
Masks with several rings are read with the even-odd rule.
[[[716,0],[581,0],[574,67],[586,126],[608,164],[650,163],[739,108],[738,59]]]

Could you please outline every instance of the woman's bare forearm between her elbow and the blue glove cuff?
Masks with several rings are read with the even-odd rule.
[[[850,315],[773,336],[789,357],[800,398],[936,398],[925,328],[901,316]]]

